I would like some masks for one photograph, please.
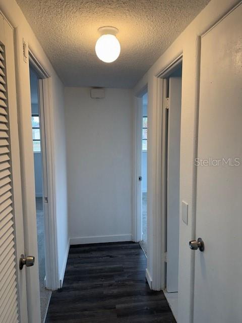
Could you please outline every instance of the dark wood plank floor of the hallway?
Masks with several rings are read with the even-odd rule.
[[[145,279],[138,243],[71,246],[62,290],[52,292],[46,323],[173,323],[163,292]]]

